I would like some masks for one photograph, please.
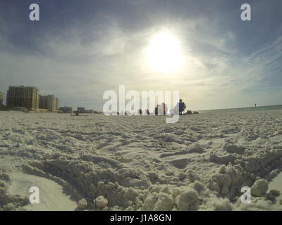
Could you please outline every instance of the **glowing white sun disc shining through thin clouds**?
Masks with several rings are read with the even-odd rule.
[[[147,62],[159,72],[176,72],[183,66],[180,41],[168,32],[155,35],[147,48]]]

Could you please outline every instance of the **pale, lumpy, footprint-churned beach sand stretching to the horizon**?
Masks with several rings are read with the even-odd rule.
[[[0,112],[0,210],[282,210],[281,168],[282,110],[177,124]],[[40,189],[37,206],[29,186]]]

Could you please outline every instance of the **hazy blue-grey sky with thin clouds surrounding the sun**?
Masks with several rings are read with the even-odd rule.
[[[39,21],[30,21],[30,4]],[[240,19],[250,4],[252,20]],[[183,65],[147,61],[159,33]],[[191,110],[282,104],[281,0],[0,0],[0,91],[37,86],[61,106],[102,110],[107,90],[180,91]]]

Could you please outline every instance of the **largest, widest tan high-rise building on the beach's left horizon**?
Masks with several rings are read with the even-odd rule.
[[[24,107],[29,110],[39,108],[39,89],[35,86],[9,86],[7,91],[7,107]]]

